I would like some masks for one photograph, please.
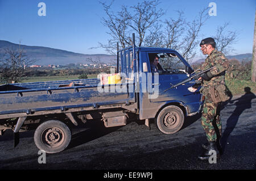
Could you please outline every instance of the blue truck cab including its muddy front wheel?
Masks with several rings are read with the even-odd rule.
[[[118,53],[117,69],[128,82],[135,85],[128,94],[138,100],[140,120],[155,119],[161,132],[171,134],[179,131],[185,116],[200,111],[203,102],[199,89],[195,92],[188,90],[195,81],[170,89],[193,72],[176,50],[134,46],[119,50]],[[156,73],[152,71],[154,57],[158,57],[160,64]]]

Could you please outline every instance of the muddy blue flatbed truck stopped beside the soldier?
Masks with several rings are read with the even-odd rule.
[[[162,64],[159,73],[151,73],[154,56]],[[176,50],[136,47],[133,35],[131,47],[117,50],[114,75],[121,77],[120,82],[102,83],[98,77],[1,85],[0,133],[13,129],[16,146],[19,131],[33,125],[35,144],[46,153],[67,148],[72,137],[69,123],[85,123],[95,115],[100,115],[105,127],[126,125],[129,115],[143,121],[155,119],[159,131],[172,134],[203,103],[199,91],[188,91],[195,81],[170,89],[192,73]]]

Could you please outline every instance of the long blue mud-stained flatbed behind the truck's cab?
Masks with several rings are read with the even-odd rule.
[[[127,92],[99,92],[99,79],[14,83],[0,86],[0,115],[126,103]],[[105,85],[106,86],[106,85]],[[0,117],[1,119],[1,117]]]

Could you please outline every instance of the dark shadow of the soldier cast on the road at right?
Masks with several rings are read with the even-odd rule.
[[[222,145],[222,151],[225,150],[225,146],[228,142],[228,137],[230,133],[233,132],[234,128],[237,125],[237,121],[242,114],[243,111],[246,109],[251,108],[251,100],[255,99],[256,96],[251,92],[250,87],[245,87],[245,94],[242,95],[240,98],[230,100],[229,103],[236,102],[236,109],[233,111],[232,115],[229,116],[228,120],[226,120],[226,129],[222,133],[221,138],[221,145]]]

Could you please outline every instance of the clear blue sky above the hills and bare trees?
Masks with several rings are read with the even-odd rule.
[[[109,3],[109,0],[102,0]],[[46,5],[46,16],[39,16],[40,2]],[[137,5],[138,0],[116,0],[113,11],[122,5]],[[229,31],[238,32],[233,54],[252,53],[254,36],[255,0],[160,0],[159,7],[166,10],[162,19],[175,18],[182,10],[187,20],[194,19],[200,10],[216,3],[216,16],[211,16],[201,30],[202,37],[211,37],[218,26],[229,23]],[[128,4],[129,3],[129,4]],[[105,52],[98,43],[108,43],[108,28],[101,23],[106,16],[97,0],[0,0],[0,40],[31,46],[68,50],[76,53],[99,54]],[[200,47],[199,47],[200,49]]]

